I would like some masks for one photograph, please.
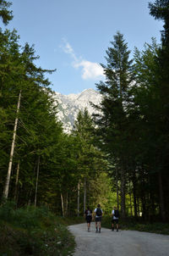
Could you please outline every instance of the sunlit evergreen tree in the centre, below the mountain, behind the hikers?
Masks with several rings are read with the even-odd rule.
[[[106,170],[106,161],[103,159],[103,154],[95,147],[94,130],[94,122],[87,109],[84,112],[79,111],[77,120],[75,121],[73,135],[79,146],[77,152],[77,172],[79,183],[82,183],[82,187],[84,188],[84,210],[87,202],[92,203],[89,192],[92,181],[94,182],[96,177]],[[98,189],[98,197],[99,193],[100,191]]]

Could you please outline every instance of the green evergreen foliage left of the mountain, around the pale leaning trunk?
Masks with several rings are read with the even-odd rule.
[[[0,36],[0,118],[3,120],[0,125],[0,191],[3,192],[5,185],[20,92],[19,124],[13,159],[14,173],[10,180],[12,189],[8,196],[18,198],[18,204],[24,205],[26,201],[31,203],[35,199],[32,190],[35,186],[38,157],[40,156],[41,166],[49,159],[51,164],[56,163],[62,125],[57,121],[52,92],[47,88],[50,82],[45,78],[45,73],[51,73],[53,70],[42,70],[41,67],[35,66],[34,61],[38,57],[35,56],[34,47],[26,43],[21,49],[18,44],[19,36],[15,31],[5,31]],[[19,180],[16,186],[14,183],[18,163]],[[49,164],[47,168],[51,169]],[[46,170],[41,168],[41,181],[48,175]],[[39,191],[41,192],[40,189]]]

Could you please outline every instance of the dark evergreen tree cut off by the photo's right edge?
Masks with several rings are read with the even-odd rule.
[[[162,154],[158,153],[158,161],[161,162],[161,169],[158,172],[161,199],[160,209],[162,220],[166,220],[166,216],[169,214],[169,209],[167,207],[169,200],[166,197],[166,194],[169,192],[169,181],[167,179],[167,170],[169,166],[169,148],[167,146],[169,131],[169,1],[156,0],[155,3],[149,4],[149,8],[150,14],[155,17],[155,19],[164,21],[164,31],[161,31],[161,47],[156,58],[157,70],[154,84],[155,89],[158,92],[156,102],[159,106],[159,119],[156,129],[157,131],[162,131],[157,144],[158,152],[161,152],[161,148],[163,152]]]

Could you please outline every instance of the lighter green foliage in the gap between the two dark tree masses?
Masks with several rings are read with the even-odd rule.
[[[73,136],[77,142],[77,177],[80,187],[84,190],[80,192],[80,201],[83,202],[86,191],[86,206],[90,205],[95,209],[96,202],[102,206],[106,202],[106,192],[108,178],[106,176],[107,162],[104,154],[95,145],[95,127],[87,109],[79,111],[77,121],[74,125]],[[86,188],[86,190],[85,190]],[[83,214],[83,204],[81,203],[81,214]]]

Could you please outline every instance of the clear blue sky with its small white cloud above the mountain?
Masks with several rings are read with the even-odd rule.
[[[149,14],[147,0],[11,0],[20,44],[35,45],[52,90],[63,94],[94,88],[104,79],[100,63],[120,31],[134,53],[154,36],[160,42],[162,23]],[[131,57],[132,57],[131,53]]]

